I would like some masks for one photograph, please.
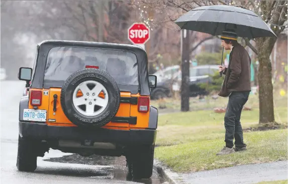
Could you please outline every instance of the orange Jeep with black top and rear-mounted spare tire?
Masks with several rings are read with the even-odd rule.
[[[150,104],[145,50],[136,45],[45,40],[34,67],[20,68],[17,168],[34,171],[50,148],[81,156],[125,156],[129,172],[150,178],[158,110]]]

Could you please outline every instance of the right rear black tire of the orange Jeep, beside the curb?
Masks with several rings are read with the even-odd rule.
[[[127,166],[135,179],[148,179],[153,173],[154,145],[131,147]]]

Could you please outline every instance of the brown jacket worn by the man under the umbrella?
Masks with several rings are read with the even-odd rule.
[[[251,91],[251,58],[247,50],[236,43],[229,56],[229,65],[223,71],[225,79],[219,96],[227,97],[232,91]]]

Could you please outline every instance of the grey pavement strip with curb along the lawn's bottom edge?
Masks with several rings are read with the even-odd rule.
[[[156,161],[155,167],[170,183],[213,183],[213,184],[251,184],[260,181],[287,179],[287,160],[270,163],[240,165],[222,169],[179,174],[162,166]]]

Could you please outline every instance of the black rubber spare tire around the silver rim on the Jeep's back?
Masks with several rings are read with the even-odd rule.
[[[72,103],[72,96],[76,87],[89,80],[101,83],[107,89],[109,96],[105,110],[95,116],[85,116],[79,113]],[[73,124],[79,127],[99,128],[108,124],[118,112],[120,90],[115,80],[106,72],[99,69],[83,69],[75,72],[65,81],[61,90],[60,103],[64,114]]]

